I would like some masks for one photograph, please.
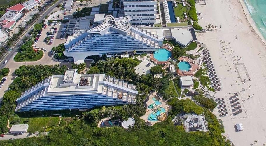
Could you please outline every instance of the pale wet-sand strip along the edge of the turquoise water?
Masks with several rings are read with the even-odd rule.
[[[248,24],[250,25],[250,27],[252,28],[252,30],[256,34],[256,36],[258,36],[258,38],[260,38],[260,40],[262,41],[262,43],[264,44],[264,47],[265,47],[266,46],[266,40],[264,39],[263,35],[261,34],[261,32],[256,27],[255,22],[252,19],[251,14],[249,13],[248,8],[247,8],[244,0],[238,0],[238,2],[240,3],[240,5],[242,7],[243,13],[245,15],[245,18],[246,18]]]

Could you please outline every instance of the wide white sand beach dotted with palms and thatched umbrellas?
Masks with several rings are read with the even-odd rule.
[[[244,109],[242,109],[243,112],[241,114],[243,115],[242,117],[246,118],[235,118],[236,116],[232,116],[233,118],[231,116],[219,117],[218,109],[214,111],[214,114],[223,120],[225,126],[224,135],[228,136],[234,145],[250,145],[251,143],[255,143],[255,140],[258,141],[255,145],[263,145],[266,142],[265,44],[260,39],[260,34],[257,35],[252,27],[250,27],[245,16],[247,16],[251,25],[254,25],[254,22],[248,13],[248,15],[243,13],[239,1],[209,0],[206,1],[206,5],[196,5],[196,8],[198,12],[202,13],[201,16],[203,19],[199,20],[199,24],[202,27],[205,27],[209,23],[218,26],[217,31],[213,30],[202,34],[197,33],[197,39],[205,43],[207,49],[209,49],[217,75],[223,83],[223,88],[216,93],[216,97],[228,98],[228,95],[225,96],[226,93],[239,92],[242,91],[242,88],[246,89],[246,91],[240,92],[241,98],[245,99],[244,102],[240,102],[242,102],[242,105],[244,104],[245,110],[247,110],[247,117]],[[246,7],[244,7],[244,11],[247,12]],[[222,25],[221,29],[219,25]],[[236,40],[234,40],[235,36],[237,36]],[[220,45],[220,40],[226,41],[226,43]],[[228,42],[231,43],[227,45]],[[224,52],[221,52],[220,47],[225,45],[227,45],[226,47],[228,49],[225,55],[223,55]],[[231,49],[234,53],[229,56],[232,53],[230,52]],[[227,53],[228,51],[229,53]],[[245,64],[251,81],[238,85],[243,82],[237,78],[238,74],[233,65],[237,61],[231,61],[231,59],[234,60],[234,58],[231,58],[232,56],[235,56],[236,59],[239,57],[242,58],[238,63]],[[229,66],[232,70],[227,71],[230,68]],[[237,84],[235,84],[235,80],[237,80]],[[234,85],[231,86],[231,84]],[[248,89],[248,85],[251,85],[250,89]],[[252,94],[254,94],[254,97],[247,100],[248,95],[252,96]],[[230,110],[230,104],[228,106]],[[235,131],[234,125],[237,123],[243,124],[243,131]]]

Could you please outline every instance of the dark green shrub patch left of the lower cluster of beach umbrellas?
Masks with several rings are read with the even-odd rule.
[[[204,97],[202,92],[199,95],[194,96],[193,99],[196,100],[203,107],[206,107],[207,109],[210,109],[211,111],[217,106],[216,102],[212,98],[209,99],[209,98]]]

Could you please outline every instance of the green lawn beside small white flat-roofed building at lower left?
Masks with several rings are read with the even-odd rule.
[[[28,124],[28,132],[44,131],[46,126],[58,125],[60,117],[37,117],[37,118],[10,118],[10,127],[12,124]]]

